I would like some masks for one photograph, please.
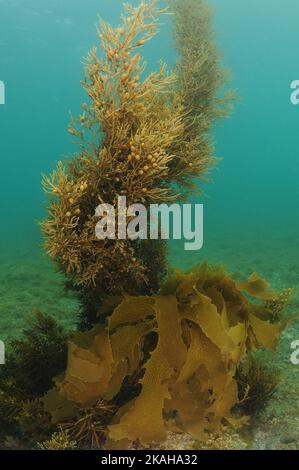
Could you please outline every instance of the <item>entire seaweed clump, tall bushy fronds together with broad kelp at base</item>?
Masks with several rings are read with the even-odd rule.
[[[57,377],[46,374],[39,391],[0,394],[6,441],[11,431],[46,450],[160,446],[169,433],[210,442],[248,422],[234,411],[250,396],[240,366],[259,348],[275,350],[284,328],[283,302],[257,274],[238,285],[204,265],[167,281],[163,242],[95,238],[99,202],[181,201],[215,162],[210,129],[232,96],[219,97],[225,74],[210,14],[201,0],[170,3],[173,71],[161,63],[145,75],[141,50],[165,13],[155,0],[126,6],[117,28],[101,21],[101,54],[86,59],[87,102],[69,128],[79,152],[44,178],[42,223],[48,254],[80,296],[82,331],[68,336],[67,357],[56,337]]]

